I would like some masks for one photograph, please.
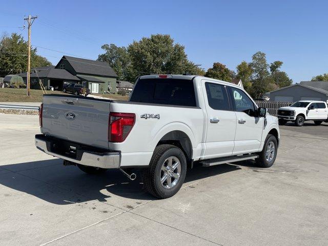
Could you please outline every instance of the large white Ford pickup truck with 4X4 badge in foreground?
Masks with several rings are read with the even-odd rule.
[[[44,95],[35,146],[87,173],[143,169],[159,198],[181,188],[187,166],[255,159],[271,167],[279,144],[278,118],[258,108],[240,87],[189,75],[137,79],[129,101]]]

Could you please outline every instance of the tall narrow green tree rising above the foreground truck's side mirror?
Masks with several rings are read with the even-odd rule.
[[[251,95],[256,98],[263,95],[264,92],[267,92],[270,81],[270,79],[268,79],[270,75],[268,71],[269,65],[265,53],[260,51],[256,52],[252,56],[252,63],[250,65],[253,70]]]

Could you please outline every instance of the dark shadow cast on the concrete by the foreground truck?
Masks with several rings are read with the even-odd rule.
[[[222,164],[209,168],[195,165],[188,169],[185,183],[239,170],[237,166]],[[136,180],[129,180],[119,170],[102,175],[90,175],[77,167],[61,165],[60,159],[32,161],[0,166],[0,185],[25,192],[54,204],[70,204],[98,200],[110,202],[113,196],[138,200],[154,200],[142,183],[142,170],[133,170]]]

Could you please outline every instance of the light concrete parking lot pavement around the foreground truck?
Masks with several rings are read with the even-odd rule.
[[[158,200],[140,176],[90,176],[34,147],[38,117],[0,114],[0,245],[327,245],[328,124],[280,127],[275,165],[188,170]]]

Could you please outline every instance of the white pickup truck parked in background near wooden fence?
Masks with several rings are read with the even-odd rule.
[[[296,101],[290,107],[278,109],[279,124],[293,121],[296,126],[304,125],[305,120],[314,120],[315,125],[328,122],[328,109],[324,101]]]

